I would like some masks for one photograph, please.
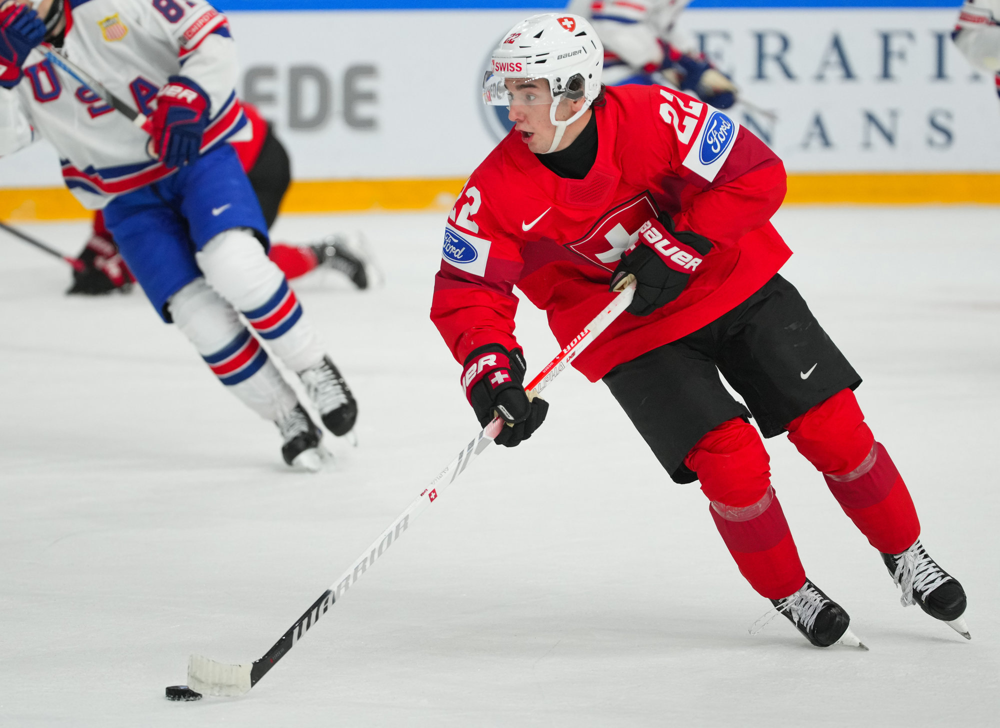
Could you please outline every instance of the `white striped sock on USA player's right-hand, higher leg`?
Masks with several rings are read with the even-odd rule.
[[[294,372],[319,364],[324,351],[302,305],[257,238],[243,228],[212,238],[196,255],[208,284],[246,316],[275,356]]]

